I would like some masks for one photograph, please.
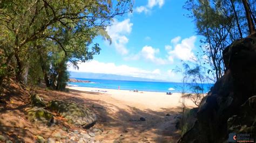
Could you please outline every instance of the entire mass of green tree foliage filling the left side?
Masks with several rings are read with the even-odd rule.
[[[64,90],[66,67],[99,54],[93,39],[111,41],[106,26],[131,10],[130,0],[1,1],[0,79],[15,73],[20,82]]]

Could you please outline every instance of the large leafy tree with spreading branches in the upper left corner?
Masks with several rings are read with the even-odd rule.
[[[11,34],[8,45],[11,47],[6,53],[5,65],[14,59],[17,66],[16,77],[20,82],[26,81],[28,69],[26,57],[31,46],[37,40],[54,40],[63,27],[68,28],[77,35],[83,35],[84,41],[91,43],[93,37],[104,31],[110,20],[131,10],[130,0],[112,1],[1,1],[0,25]],[[88,39],[87,37],[90,37]],[[86,38],[85,38],[86,37]],[[63,46],[62,50],[68,56],[69,51]],[[83,49],[80,49],[82,51]],[[76,53],[69,54],[75,56]],[[87,56],[87,55],[82,55]],[[83,59],[87,59],[84,57]]]

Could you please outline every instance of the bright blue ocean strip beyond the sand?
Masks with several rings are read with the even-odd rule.
[[[193,93],[191,83],[177,83],[177,82],[147,82],[147,81],[119,81],[119,80],[99,80],[90,78],[76,78],[77,80],[91,81],[88,83],[69,82],[68,85],[72,87],[90,87],[90,88],[105,88],[120,90],[138,90],[138,91],[153,91],[153,92],[182,92],[183,89],[187,93]],[[213,84],[203,84],[204,93],[210,91]],[[184,88],[183,88],[184,87]]]

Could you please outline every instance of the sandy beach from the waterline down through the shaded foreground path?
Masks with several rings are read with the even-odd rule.
[[[181,111],[179,93],[85,87],[69,87],[69,90],[96,111],[99,122],[95,126],[104,130],[96,137],[99,140],[175,142],[179,139],[175,127]],[[193,106],[190,101],[186,103]],[[146,121],[139,121],[140,117]]]

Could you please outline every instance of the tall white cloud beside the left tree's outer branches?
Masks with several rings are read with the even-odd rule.
[[[125,46],[127,42],[129,42],[126,35],[131,33],[132,25],[133,23],[130,22],[130,19],[125,19],[122,22],[118,22],[117,19],[114,19],[112,26],[106,28],[107,34],[111,37],[113,46],[116,48],[117,52],[122,55],[129,53]]]

